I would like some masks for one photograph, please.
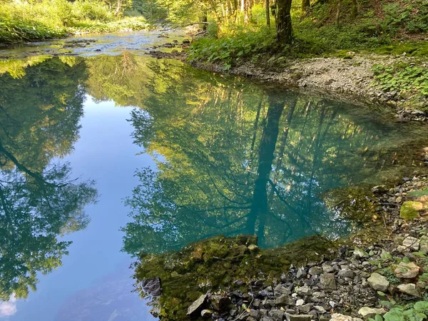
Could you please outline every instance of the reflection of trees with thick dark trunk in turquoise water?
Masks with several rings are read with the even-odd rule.
[[[367,111],[165,61],[146,64],[150,92],[132,101],[141,108],[131,121],[157,170],[136,174],[141,183],[127,201],[133,222],[124,229],[129,253],[220,233],[255,233],[263,248],[313,233],[338,237],[349,226],[320,195],[399,175],[414,160],[397,153],[408,153],[403,146],[417,132],[403,136],[402,127]]]

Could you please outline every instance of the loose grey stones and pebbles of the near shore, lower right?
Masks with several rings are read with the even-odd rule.
[[[372,192],[385,228],[378,243],[351,237],[348,244],[354,245],[342,245],[320,261],[290,265],[277,279],[235,280],[230,287],[208,290],[188,306],[188,318],[357,321],[428,301],[428,178],[406,178],[394,188],[377,186]],[[248,245],[248,251],[258,248]],[[237,285],[248,290],[235,290]],[[407,319],[385,315],[385,320]]]

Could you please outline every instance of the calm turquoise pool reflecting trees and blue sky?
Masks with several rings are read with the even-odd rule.
[[[346,235],[325,193],[411,175],[428,141],[384,110],[129,52],[2,61],[0,84],[4,320],[151,320],[133,255]]]

